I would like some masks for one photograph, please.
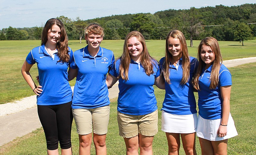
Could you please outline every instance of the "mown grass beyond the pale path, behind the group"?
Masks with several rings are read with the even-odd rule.
[[[41,41],[0,41],[0,104],[19,100],[23,97],[31,96],[34,93],[23,79],[20,69],[29,51],[40,45]],[[200,41],[194,41],[194,47],[188,47],[189,54],[196,57],[197,46]],[[147,40],[149,53],[160,60],[164,56],[165,40]],[[220,41],[220,48],[224,60],[256,56],[256,40],[244,41],[245,46],[236,41]],[[103,40],[101,47],[113,50],[115,57],[119,57],[123,51],[124,40]],[[189,41],[187,41],[189,45]],[[77,40],[69,41],[69,46],[73,51],[83,48],[87,44],[82,44]],[[35,79],[38,75],[37,67],[34,65],[30,71]],[[75,80],[70,82],[74,85]]]

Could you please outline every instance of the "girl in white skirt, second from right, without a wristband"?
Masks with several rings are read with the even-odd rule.
[[[179,154],[180,137],[186,154],[196,154],[196,100],[192,78],[197,60],[188,55],[186,39],[179,30],[166,37],[165,57],[160,61],[165,80],[162,130],[166,133],[168,154]]]

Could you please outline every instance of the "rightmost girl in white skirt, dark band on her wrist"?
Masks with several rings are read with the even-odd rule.
[[[199,65],[193,81],[198,90],[196,135],[203,155],[227,154],[228,138],[237,135],[230,114],[231,74],[222,64],[219,43],[206,37],[198,46]]]

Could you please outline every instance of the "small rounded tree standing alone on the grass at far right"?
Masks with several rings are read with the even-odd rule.
[[[238,23],[234,34],[236,40],[242,41],[242,46],[244,46],[245,40],[252,38],[252,30],[245,23]]]

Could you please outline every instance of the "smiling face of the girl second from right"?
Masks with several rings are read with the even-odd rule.
[[[172,57],[181,58],[181,45],[178,38],[170,37],[167,40],[168,51],[171,53]]]

